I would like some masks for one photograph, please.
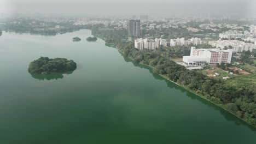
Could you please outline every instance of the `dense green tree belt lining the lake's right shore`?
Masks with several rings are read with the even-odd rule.
[[[124,56],[132,58],[136,63],[149,65],[154,73],[188,88],[256,127],[256,86],[251,81],[232,85],[234,82],[229,83],[229,80],[212,79],[198,71],[188,70],[161,52],[139,51],[132,42],[126,41],[125,33],[121,30],[92,29],[92,34],[103,38],[107,46],[117,47]]]

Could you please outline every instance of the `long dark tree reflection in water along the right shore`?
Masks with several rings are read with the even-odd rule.
[[[254,131],[254,133],[256,133],[256,129],[254,127],[252,127],[252,125],[249,125],[248,123],[242,121],[242,119],[237,118],[236,116],[232,115],[228,111],[226,111],[226,110],[222,109],[221,107],[211,103],[210,101],[207,101],[207,100],[197,96],[196,94],[188,91],[187,89],[185,89],[185,88],[183,88],[181,86],[178,86],[178,85],[176,85],[175,83],[173,83],[173,82],[171,82],[169,80],[166,80],[164,77],[162,77],[162,76],[160,76],[158,74],[153,73],[153,69],[152,68],[150,68],[150,67],[148,67],[146,65],[142,65],[142,64],[136,63],[136,62],[132,61],[132,59],[130,59],[129,57],[125,57],[122,53],[121,53],[121,55],[124,57],[125,62],[131,62],[135,67],[139,67],[139,68],[142,68],[142,69],[147,69],[147,70],[149,70],[149,73],[151,73],[153,75],[153,77],[155,79],[164,80],[166,82],[166,84],[167,84],[167,87],[178,89],[179,91],[185,92],[186,95],[190,99],[192,99],[192,100],[199,100],[202,104],[205,104],[206,106],[211,107],[211,108],[213,108],[216,111],[219,111],[219,113],[226,119],[226,121],[234,122],[236,125],[246,125],[249,129],[251,129],[252,131]]]

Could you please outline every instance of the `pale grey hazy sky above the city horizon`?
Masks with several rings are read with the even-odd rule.
[[[77,16],[256,16],[256,0],[0,0],[0,13]]]

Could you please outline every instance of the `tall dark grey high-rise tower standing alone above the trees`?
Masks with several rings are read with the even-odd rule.
[[[128,22],[128,35],[129,37],[141,36],[141,20],[131,19]]]

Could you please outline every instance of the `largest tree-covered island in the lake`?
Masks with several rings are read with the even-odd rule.
[[[30,63],[28,73],[30,74],[53,74],[65,73],[77,69],[77,64],[73,60],[66,58],[48,58],[40,57],[39,59]]]

